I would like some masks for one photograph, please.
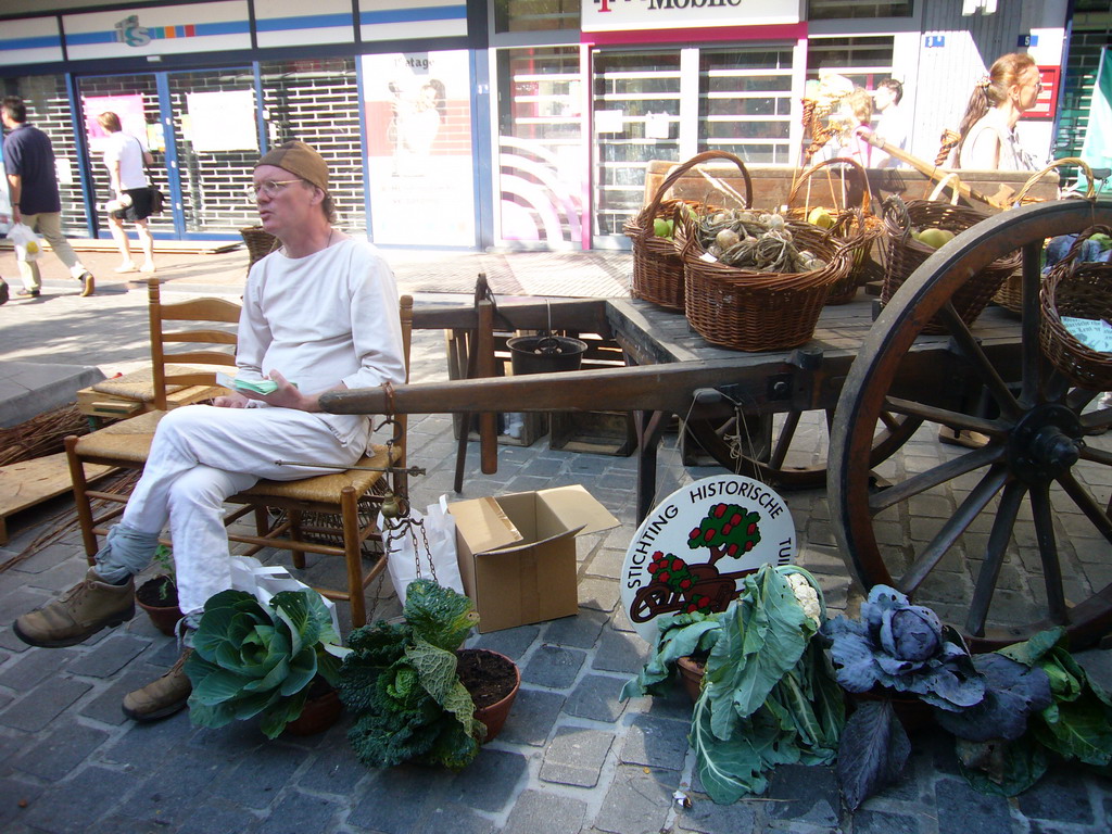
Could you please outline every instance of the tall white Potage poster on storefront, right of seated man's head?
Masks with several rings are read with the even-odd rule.
[[[474,246],[466,50],[363,57],[371,237]]]

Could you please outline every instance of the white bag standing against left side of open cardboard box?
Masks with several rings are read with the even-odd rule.
[[[421,527],[416,524],[411,527],[413,534],[405,529],[391,534],[386,527],[386,519],[378,515],[378,528],[386,539],[386,567],[398,599],[405,603],[406,588],[418,577],[418,564],[421,578],[435,578],[441,587],[463,594],[464,580],[459,577],[459,564],[456,562],[456,520],[448,514],[448,496],[430,504],[425,513],[410,509],[409,516],[415,522],[425,522],[424,536]],[[426,539],[428,549],[425,548]]]

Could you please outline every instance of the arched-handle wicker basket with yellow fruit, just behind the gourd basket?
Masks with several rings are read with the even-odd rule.
[[[825,175],[825,183],[815,196],[813,180],[821,170]],[[854,193],[846,181],[847,175],[855,180],[856,203],[851,201]],[[798,206],[801,193],[802,207]],[[865,282],[866,276],[875,272],[875,268],[870,268],[873,245],[884,234],[883,222],[870,211],[868,175],[865,169],[853,159],[836,158],[818,162],[801,173],[787,196],[787,216],[793,220],[806,221],[811,211],[818,206],[831,210],[834,226],[827,235],[847,246],[851,258],[848,274],[831,287],[826,304],[846,304],[853,300],[857,287]]]

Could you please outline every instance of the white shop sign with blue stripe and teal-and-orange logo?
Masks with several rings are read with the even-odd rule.
[[[250,49],[247,0],[66,14],[66,50],[83,61]]]

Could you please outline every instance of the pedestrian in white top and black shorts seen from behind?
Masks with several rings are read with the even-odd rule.
[[[112,238],[120,250],[120,266],[117,272],[135,272],[136,264],[131,260],[131,245],[123,221],[135,224],[139,235],[139,244],[146,260],[142,271],[155,271],[155,238],[147,228],[147,218],[151,216],[150,182],[143,170],[145,165],[155,161],[150,151],[133,136],[123,132],[120,117],[109,111],[97,117],[97,122],[108,131],[105,145],[105,167],[111,179],[116,199],[109,203],[108,221],[112,227]]]

